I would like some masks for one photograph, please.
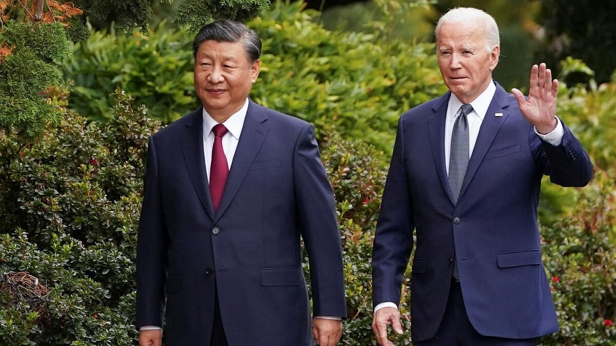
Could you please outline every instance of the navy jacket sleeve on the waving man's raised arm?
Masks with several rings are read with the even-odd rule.
[[[562,129],[564,134],[561,145],[557,146],[539,139],[532,129],[529,140],[535,161],[543,167],[543,174],[549,175],[553,183],[564,187],[586,186],[593,176],[593,164],[580,141],[564,123]]]

